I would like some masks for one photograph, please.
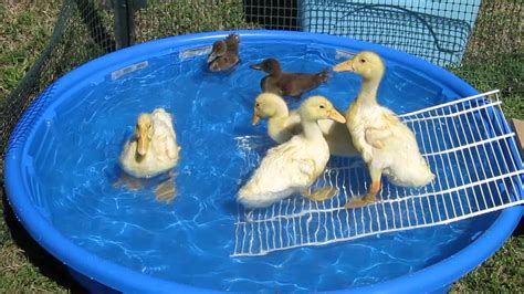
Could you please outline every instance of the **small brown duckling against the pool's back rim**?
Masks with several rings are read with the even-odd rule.
[[[232,33],[223,41],[213,43],[211,53],[208,56],[208,69],[211,72],[227,71],[240,61],[239,59],[240,36]]]

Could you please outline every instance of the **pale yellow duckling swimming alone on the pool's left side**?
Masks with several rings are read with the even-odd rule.
[[[151,178],[170,171],[178,162],[179,153],[171,115],[164,108],[156,108],[151,114],[138,116],[135,133],[125,143],[119,164],[135,178]],[[172,200],[172,179],[160,183],[155,193],[158,200]]]

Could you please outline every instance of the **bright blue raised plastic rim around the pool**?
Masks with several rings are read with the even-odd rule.
[[[77,81],[82,81],[83,77],[90,77],[90,80],[93,80],[91,77],[98,76],[98,78],[103,78],[103,76],[106,76],[108,73],[115,70],[148,60],[153,56],[160,55],[161,52],[166,54],[169,52],[179,52],[185,49],[195,49],[202,45],[210,45],[213,41],[228,35],[230,32],[231,31],[214,31],[170,36],[126,48],[114,53],[103,55],[78,66],[77,69],[60,77],[56,82],[50,85],[49,88],[52,87],[54,93],[75,91],[76,87],[85,85],[83,83],[77,83]],[[381,45],[347,38],[307,32],[268,30],[238,30],[235,32],[241,35],[241,39],[247,38],[256,41],[302,41],[340,46],[343,50],[347,50],[347,48],[354,48],[357,50],[371,50],[384,55],[388,60],[409,63],[410,67],[412,66],[415,69],[421,69],[421,71],[425,71],[425,74],[428,74],[431,77],[439,77],[439,82],[446,84],[449,88],[452,88],[457,93],[461,93],[463,96],[479,93],[461,78],[437,65],[433,65],[419,57],[411,56]],[[101,72],[104,74],[102,75]],[[41,111],[38,113],[39,116],[34,117],[36,120],[33,122],[33,125],[29,126],[29,129],[27,129],[28,126],[22,124],[24,120],[23,118],[27,116],[34,116],[34,113],[30,112],[30,109],[40,98],[41,96],[32,102],[32,104],[21,116],[20,120],[17,123],[14,130],[10,135],[3,162],[4,187],[9,203],[13,208],[18,220],[23,224],[31,237],[54,258],[62,261],[72,270],[118,291],[149,292],[155,288],[155,292],[217,292],[212,288],[200,288],[187,284],[180,284],[175,281],[168,281],[142,274],[138,271],[134,271],[129,267],[111,262],[109,260],[102,259],[94,253],[74,244],[65,235],[54,229],[54,227],[40,214],[35,206],[33,206],[32,200],[29,198],[27,187],[22,180],[22,168],[24,164],[25,149],[28,147],[27,141],[30,141],[31,136],[34,135],[36,129],[35,126],[39,126],[41,120],[45,118],[45,111],[52,109],[52,104],[61,102],[61,99],[56,99],[48,104],[43,112]],[[504,124],[504,127],[509,127],[505,119],[502,120],[502,123]],[[18,133],[22,133],[24,136],[19,138],[15,136]],[[21,143],[20,140],[23,141]],[[473,270],[485,259],[491,256],[500,246],[502,246],[504,241],[518,223],[523,211],[524,209],[520,206],[502,210],[495,221],[476,240],[453,255],[443,259],[430,266],[374,285],[333,292],[428,292],[449,286],[462,275]],[[412,283],[413,281],[417,282]]]

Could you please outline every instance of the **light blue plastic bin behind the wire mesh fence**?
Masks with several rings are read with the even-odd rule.
[[[304,31],[349,36],[458,65],[481,1],[305,0]]]

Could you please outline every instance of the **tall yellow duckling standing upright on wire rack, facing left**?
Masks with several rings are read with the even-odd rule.
[[[346,114],[347,128],[356,149],[367,164],[371,186],[361,199],[349,200],[346,208],[364,207],[376,201],[380,178],[404,187],[426,186],[434,179],[422,158],[413,133],[390,109],[377,103],[377,91],[385,72],[380,56],[363,51],[333,67],[335,72],[354,72],[363,77],[355,102]]]

